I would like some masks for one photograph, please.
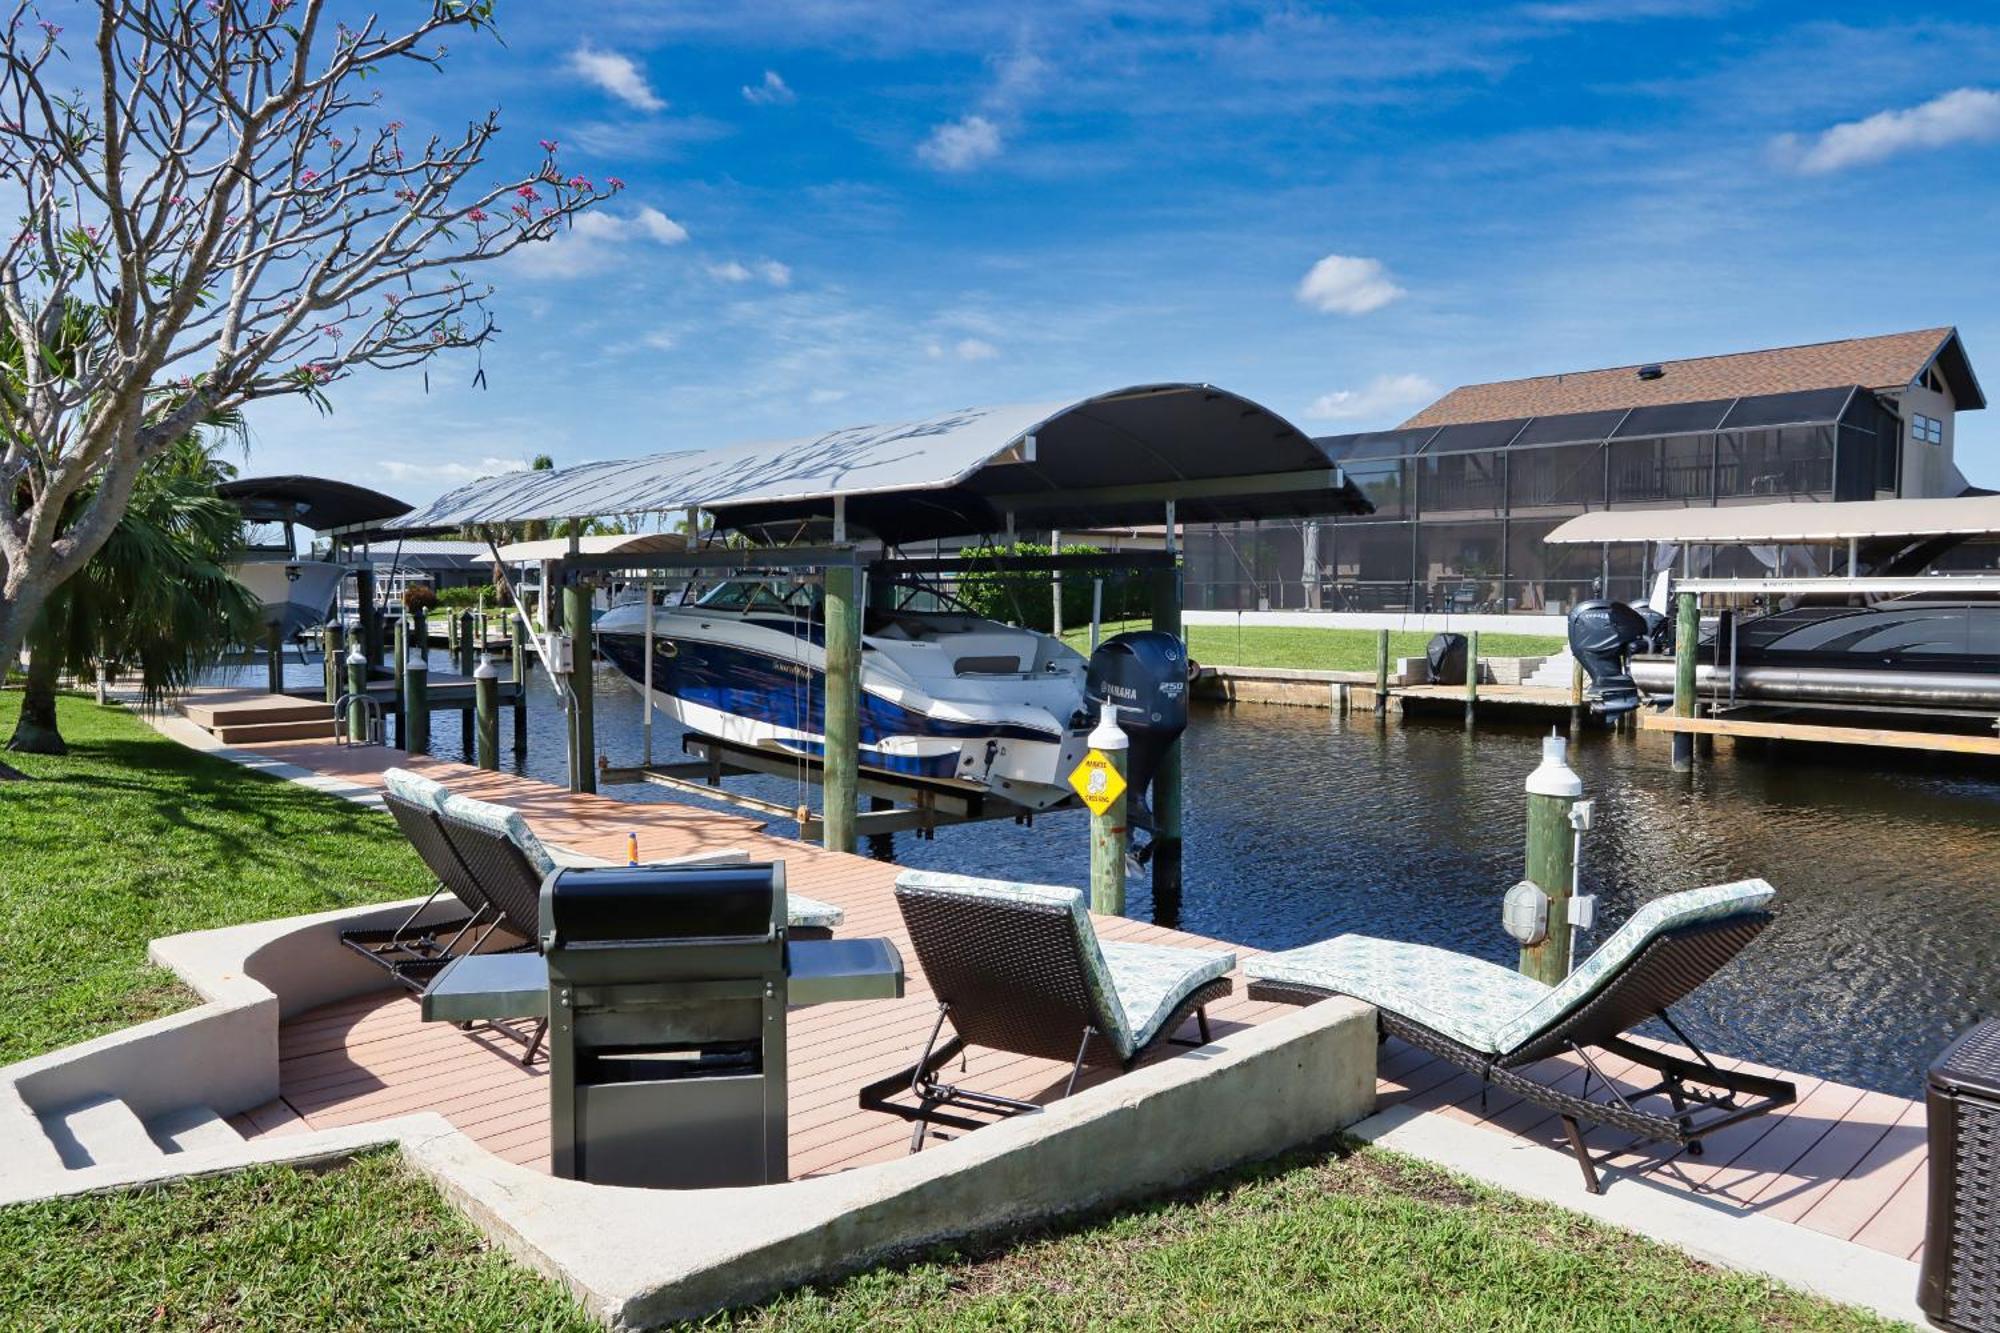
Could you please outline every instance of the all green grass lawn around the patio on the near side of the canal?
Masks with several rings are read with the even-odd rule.
[[[1324,632],[1324,630],[1322,630]],[[0,695],[0,729],[16,697]],[[402,897],[380,815],[62,701],[0,785],[0,1061],[172,1011],[154,935]],[[1402,1157],[1332,1149],[796,1291],[752,1329],[1870,1329],[1876,1321]],[[394,1153],[0,1209],[0,1327],[582,1329]]]

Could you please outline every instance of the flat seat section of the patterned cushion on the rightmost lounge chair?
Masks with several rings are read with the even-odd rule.
[[[1488,1053],[1502,1051],[1500,1031],[1550,991],[1498,963],[1368,935],[1258,955],[1244,975],[1352,995]]]

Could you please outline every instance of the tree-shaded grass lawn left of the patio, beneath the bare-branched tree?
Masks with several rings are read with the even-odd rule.
[[[0,693],[0,737],[20,695]],[[8,755],[0,783],[0,1063],[194,997],[146,963],[180,931],[424,893],[386,815],[160,737],[124,709],[58,703],[64,759]]]

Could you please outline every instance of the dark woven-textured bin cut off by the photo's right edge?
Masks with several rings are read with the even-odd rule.
[[[2000,1333],[2000,1019],[1944,1049],[1924,1109],[1930,1215],[1916,1301],[1940,1329]]]

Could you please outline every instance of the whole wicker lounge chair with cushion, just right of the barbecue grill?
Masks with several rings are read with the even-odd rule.
[[[1100,941],[1076,889],[906,871],[896,905],[910,929],[938,1021],[916,1065],[862,1089],[866,1111],[916,1121],[910,1151],[932,1125],[978,1129],[1040,1111],[1032,1101],[952,1087],[938,1071],[968,1045],[1066,1061],[1076,1089],[1086,1065],[1130,1069],[1192,1015],[1208,1041],[1208,1005],[1230,993],[1236,955]],[[938,1037],[950,1019],[954,1035]],[[894,1101],[908,1093],[916,1105]]]

